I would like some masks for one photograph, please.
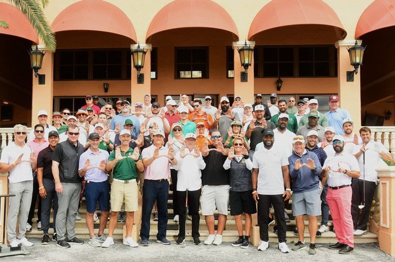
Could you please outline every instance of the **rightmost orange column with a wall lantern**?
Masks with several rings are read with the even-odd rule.
[[[358,44],[362,43],[358,40]],[[338,94],[340,97],[340,107],[350,112],[354,121],[354,131],[361,126],[361,95],[360,95],[360,70],[354,75],[354,82],[347,82],[347,71],[353,71],[350,64],[350,56],[347,47],[355,44],[355,40],[341,40],[335,43],[338,49]]]

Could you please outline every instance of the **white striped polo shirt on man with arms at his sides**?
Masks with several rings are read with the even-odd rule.
[[[262,148],[253,155],[252,165],[258,171],[258,194],[283,194],[283,166],[288,166],[288,156],[284,150],[271,147]]]

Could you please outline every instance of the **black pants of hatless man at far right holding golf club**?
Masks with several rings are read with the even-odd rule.
[[[365,181],[365,207],[362,209],[362,214],[359,217],[358,205],[363,204],[363,180],[358,178],[352,179],[352,199],[351,199],[351,216],[354,224],[354,229],[366,230],[370,208],[372,206],[373,197],[375,195],[376,183]]]

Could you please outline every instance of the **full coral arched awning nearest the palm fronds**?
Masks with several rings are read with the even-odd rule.
[[[54,32],[69,30],[103,31],[127,37],[137,43],[136,31],[128,16],[118,7],[102,0],[82,0],[57,15]]]

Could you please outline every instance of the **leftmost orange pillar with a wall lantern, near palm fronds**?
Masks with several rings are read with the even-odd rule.
[[[48,113],[48,123],[52,119],[53,104],[53,52],[48,51],[46,46],[38,46],[41,51],[45,52],[43,64],[39,70],[40,75],[45,75],[45,84],[39,84],[39,78],[34,76],[33,72],[33,91],[32,91],[32,126],[38,124],[37,113],[45,110]],[[36,46],[32,46],[36,48]]]

